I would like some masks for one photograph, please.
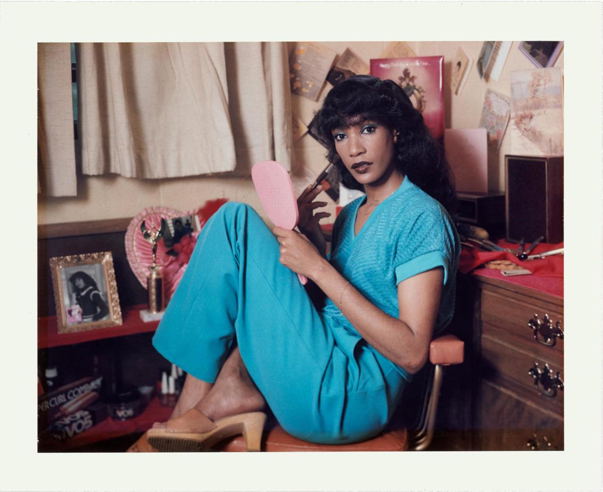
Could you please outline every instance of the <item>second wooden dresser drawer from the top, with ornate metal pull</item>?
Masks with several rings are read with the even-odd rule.
[[[563,381],[563,358],[559,354],[551,352],[551,357],[541,358],[485,334],[482,334],[481,345],[482,377],[511,391],[525,394],[536,406],[563,415],[563,389],[558,389],[554,384],[557,371]],[[538,373],[538,369],[545,371],[545,364],[553,371],[551,376]],[[535,373],[537,379],[530,371]]]

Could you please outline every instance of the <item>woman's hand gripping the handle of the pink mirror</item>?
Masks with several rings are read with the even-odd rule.
[[[313,279],[324,261],[315,245],[294,230],[274,227],[272,232],[280,244],[280,262],[295,273]]]

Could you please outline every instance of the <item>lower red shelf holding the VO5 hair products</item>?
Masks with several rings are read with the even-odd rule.
[[[151,399],[147,408],[145,408],[140,415],[137,415],[137,417],[124,421],[113,420],[111,417],[107,417],[91,429],[66,441],[59,441],[54,438],[49,438],[47,441],[40,441],[39,450],[42,452],[63,452],[86,446],[87,444],[134,434],[134,432],[145,432],[145,430],[151,428],[154,422],[168,420],[171,414],[172,408],[170,406],[162,406],[159,403],[159,399],[155,397]]]

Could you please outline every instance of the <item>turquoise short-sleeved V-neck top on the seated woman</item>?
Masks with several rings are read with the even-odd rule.
[[[396,318],[397,285],[442,266],[444,285],[434,333],[441,332],[454,311],[460,254],[450,215],[405,177],[399,188],[377,205],[356,235],[356,214],[365,201],[366,197],[357,198],[339,213],[333,225],[329,262],[371,303]],[[329,298],[323,314],[356,332]]]

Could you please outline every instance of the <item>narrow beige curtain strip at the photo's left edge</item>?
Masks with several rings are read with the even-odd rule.
[[[39,43],[38,191],[51,197],[77,194],[71,46]]]

